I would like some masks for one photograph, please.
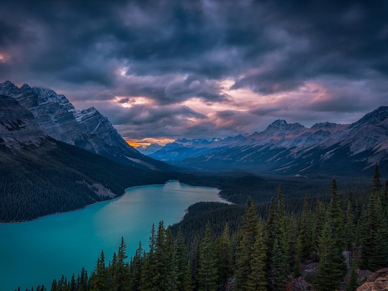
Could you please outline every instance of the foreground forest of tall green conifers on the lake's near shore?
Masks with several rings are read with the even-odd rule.
[[[281,186],[269,205],[250,197],[245,207],[194,204],[176,225],[152,225],[147,249],[139,242],[127,254],[122,238],[111,259],[101,251],[94,270],[82,268],[30,291],[218,291],[231,284],[236,291],[281,291],[308,262],[317,262],[308,278],[315,290],[355,291],[356,268],[388,267],[388,181],[383,185],[381,177],[376,165],[361,209],[338,191],[335,179],[327,203],[317,200],[312,208],[306,194],[298,211],[287,211],[292,200]]]

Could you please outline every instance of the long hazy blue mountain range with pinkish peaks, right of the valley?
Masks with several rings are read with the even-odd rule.
[[[370,168],[388,160],[388,106],[352,124],[276,120],[262,132],[223,139],[177,139],[152,158],[197,170],[243,169],[257,173],[304,175]]]

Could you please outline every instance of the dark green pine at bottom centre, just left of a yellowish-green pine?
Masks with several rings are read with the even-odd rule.
[[[199,253],[199,291],[217,291],[217,268],[210,223],[206,225],[205,236]]]

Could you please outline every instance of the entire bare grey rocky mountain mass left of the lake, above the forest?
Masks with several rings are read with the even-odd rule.
[[[19,88],[10,81],[0,83],[0,94],[3,106],[0,138],[5,145],[39,144],[44,136],[49,136],[124,165],[172,169],[128,145],[108,118],[94,107],[78,110],[64,95],[53,90],[31,88],[27,84]],[[16,114],[15,109],[23,113]],[[12,120],[15,114],[19,117]]]

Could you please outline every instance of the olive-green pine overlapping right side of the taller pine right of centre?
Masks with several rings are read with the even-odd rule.
[[[246,291],[267,291],[265,256],[266,248],[263,239],[263,228],[262,223],[259,222],[257,224],[256,240],[251,253],[251,272],[248,274]]]

